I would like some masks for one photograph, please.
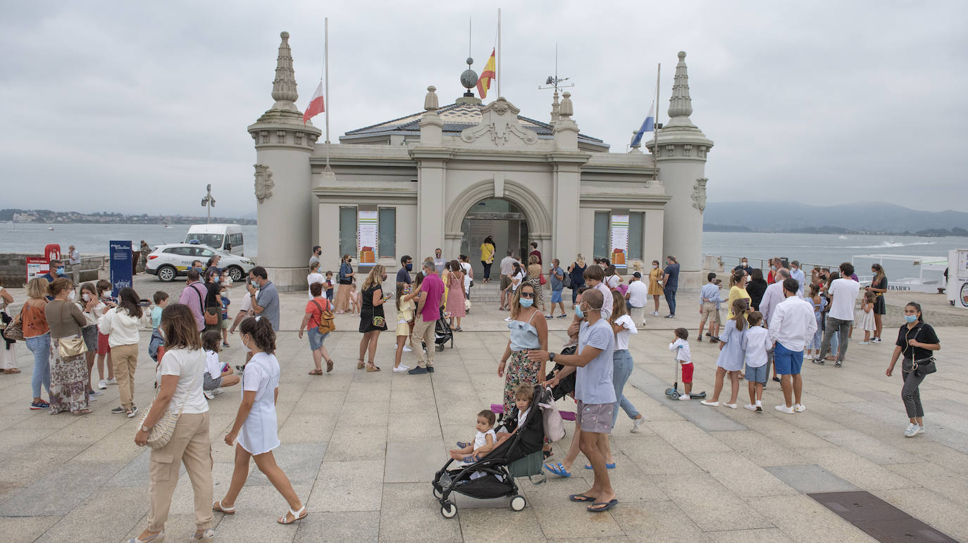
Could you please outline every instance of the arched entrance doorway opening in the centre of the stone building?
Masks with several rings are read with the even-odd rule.
[[[496,246],[492,279],[499,277],[499,262],[508,249],[519,258],[529,253],[526,251],[529,244],[527,217],[514,202],[504,198],[484,198],[471,205],[461,223],[461,231],[464,232],[461,254],[469,257],[474,277],[484,277],[480,246],[489,235],[494,238]]]

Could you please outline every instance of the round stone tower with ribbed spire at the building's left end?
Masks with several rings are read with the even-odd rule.
[[[256,141],[258,264],[265,267],[277,288],[294,290],[306,288],[307,255],[312,248],[309,155],[321,132],[312,124],[303,124],[302,112],[295,105],[299,95],[289,33],[280,37],[283,41],[272,81],[276,102],[248,131]]]

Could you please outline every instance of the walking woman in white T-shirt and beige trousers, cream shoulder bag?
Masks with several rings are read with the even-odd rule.
[[[165,336],[165,356],[158,364],[158,394],[141,421],[135,443],[147,443],[152,427],[166,412],[181,409],[181,414],[171,439],[164,447],[151,451],[148,527],[128,541],[157,543],[165,539],[165,523],[182,464],[195,495],[196,530],[191,540],[212,541],[215,532],[208,506],[212,500],[212,445],[208,439],[208,402],[201,393],[205,352],[188,306],[167,306],[160,332]]]

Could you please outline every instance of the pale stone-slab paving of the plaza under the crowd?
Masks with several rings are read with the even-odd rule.
[[[392,271],[392,270],[391,270]],[[138,278],[142,297],[161,284]],[[166,286],[174,292],[183,284]],[[236,289],[240,290],[240,289]],[[21,291],[13,293],[18,301]],[[235,292],[234,298],[240,293]],[[870,541],[809,493],[868,491],[912,517],[968,540],[968,347],[963,317],[940,297],[925,308],[937,316],[939,372],[922,385],[922,436],[905,438],[901,379],[885,377],[892,352],[898,307],[885,319],[885,342],[858,346],[857,336],[843,368],[804,368],[807,410],[781,414],[778,383],[770,382],[762,413],[704,407],[698,401],[666,398],[674,365],[667,345],[672,328],[693,333],[696,292],[680,293],[680,317],[649,317],[631,338],[635,371],[626,397],[648,417],[638,434],[621,415],[612,437],[617,468],[610,474],[620,504],[589,513],[569,494],[588,489],[590,470],[579,457],[570,479],[551,476],[534,485],[519,480],[528,506],[513,512],[507,499],[458,499],[458,518],[441,517],[430,480],[455,441],[473,435],[475,414],[500,403],[499,356],[507,341],[496,303],[474,306],[456,334],[454,348],[438,353],[429,376],[394,374],[394,338],[380,337],[377,364],[383,371],[357,371],[358,320],[337,317],[338,331],[326,342],[335,370],[308,376],[312,359],[295,330],[305,293],[282,296],[283,328],[277,351],[282,445],[276,458],[287,472],[309,517],[292,526],[276,519],[286,502],[268,480],[250,475],[236,501],[237,514],[215,515],[221,541]],[[889,303],[900,302],[889,296]],[[237,307],[237,306],[234,306]],[[664,309],[664,308],[663,308]],[[936,310],[936,311],[935,311]],[[570,311],[569,311],[570,314]],[[565,319],[551,322],[550,344],[560,349]],[[141,335],[146,352],[148,332]],[[223,354],[241,363],[237,337]],[[696,390],[711,391],[717,349],[691,342]],[[19,349],[23,373],[0,376],[0,540],[119,541],[146,526],[148,455],[134,444],[136,420],[108,412],[118,403],[117,387],[75,417],[27,409],[32,358]],[[405,354],[410,365],[414,357]],[[140,357],[136,405],[153,395],[154,364]],[[728,384],[727,384],[728,386]],[[728,389],[727,392],[728,394]],[[232,447],[223,437],[238,407],[238,389],[210,402],[215,461],[215,498],[227,489]],[[741,396],[745,398],[745,383]],[[562,410],[574,410],[561,401]],[[557,459],[571,439],[555,443]],[[191,484],[182,473],[168,519],[168,541],[185,540],[194,529]],[[463,498],[463,497],[462,497]]]

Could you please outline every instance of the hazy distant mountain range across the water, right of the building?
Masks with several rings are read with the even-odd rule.
[[[918,211],[884,202],[808,205],[797,202],[709,202],[707,231],[877,232],[968,236],[968,213]]]

